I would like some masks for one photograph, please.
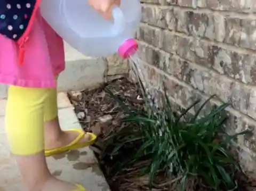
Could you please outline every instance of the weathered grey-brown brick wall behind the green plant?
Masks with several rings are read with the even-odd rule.
[[[150,83],[187,107],[217,94],[233,103],[228,132],[256,126],[256,0],[142,0],[137,39]],[[219,103],[216,99],[214,103]],[[255,136],[237,140],[239,159],[256,177]]]

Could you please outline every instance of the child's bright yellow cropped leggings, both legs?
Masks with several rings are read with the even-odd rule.
[[[44,150],[44,121],[58,115],[57,90],[11,86],[8,92],[5,126],[15,155]]]

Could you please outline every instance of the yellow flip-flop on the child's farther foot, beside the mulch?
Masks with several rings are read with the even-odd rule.
[[[69,130],[66,130],[66,131],[76,131],[76,132],[78,132],[79,135],[77,136],[77,138],[75,138],[73,140],[73,142],[71,142],[70,144],[68,144],[66,146],[45,150],[44,151],[45,156],[52,156],[52,155],[55,155],[55,154],[61,154],[61,153],[65,153],[65,152],[70,151],[70,150],[76,150],[78,148],[83,148],[83,147],[92,145],[95,142],[96,138],[97,138],[97,136],[95,134],[92,134],[90,132],[85,132],[83,129],[69,129]],[[79,141],[86,134],[89,134],[91,136],[91,139],[87,142],[79,143]]]

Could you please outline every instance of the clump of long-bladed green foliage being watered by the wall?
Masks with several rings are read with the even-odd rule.
[[[142,83],[140,82],[141,86]],[[143,86],[142,86],[143,87]],[[237,187],[234,173],[241,171],[229,145],[239,135],[250,134],[243,131],[236,135],[228,135],[223,131],[227,117],[223,111],[229,104],[215,107],[210,113],[199,116],[205,105],[214,97],[210,97],[188,120],[186,115],[200,103],[196,101],[187,110],[178,115],[165,94],[164,106],[159,109],[153,104],[149,94],[143,89],[147,110],[139,112],[127,107],[121,99],[110,90],[107,92],[128,114],[124,122],[135,124],[136,129],[121,129],[115,133],[115,144],[111,156],[121,157],[122,165],[132,165],[136,161],[150,159],[150,165],[143,168],[142,175],[149,175],[149,186],[154,185],[159,171],[172,172],[180,177],[180,191],[186,190],[190,178],[201,179],[213,190],[235,190]],[[190,114],[191,115],[191,114]],[[129,157],[122,148],[133,148]]]

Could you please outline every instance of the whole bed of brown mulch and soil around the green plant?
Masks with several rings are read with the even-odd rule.
[[[148,177],[139,175],[139,169],[142,166],[148,165],[149,160],[139,161],[133,167],[129,169],[122,169],[118,173],[113,173],[113,163],[118,162],[116,160],[102,157],[102,152],[106,151],[106,144],[108,138],[120,128],[130,128],[134,124],[121,123],[121,119],[125,117],[125,114],[117,102],[106,93],[105,88],[108,88],[119,98],[125,100],[126,105],[135,106],[138,109],[143,109],[143,99],[138,84],[134,84],[126,79],[118,79],[105,86],[78,93],[69,93],[71,103],[74,105],[74,110],[77,114],[79,121],[85,131],[94,132],[99,136],[97,143],[91,146],[95,155],[98,157],[99,163],[108,184],[112,191],[130,191],[130,190],[150,190],[148,188]],[[126,127],[123,127],[123,126]],[[109,144],[109,143],[108,143]],[[129,151],[127,151],[129,152]],[[240,175],[238,175],[240,176]],[[159,172],[158,184],[154,185],[154,189],[151,190],[175,190],[172,189],[175,185],[170,187],[171,177],[166,177],[164,173]],[[169,182],[168,182],[169,181]],[[193,185],[193,182],[189,182]],[[256,184],[253,185],[249,179],[244,176],[239,177],[239,185],[242,185],[241,190],[255,191]],[[202,186],[202,185],[201,185]],[[199,186],[200,187],[200,186]],[[195,185],[191,186],[192,190],[211,190],[209,188],[198,188]]]

